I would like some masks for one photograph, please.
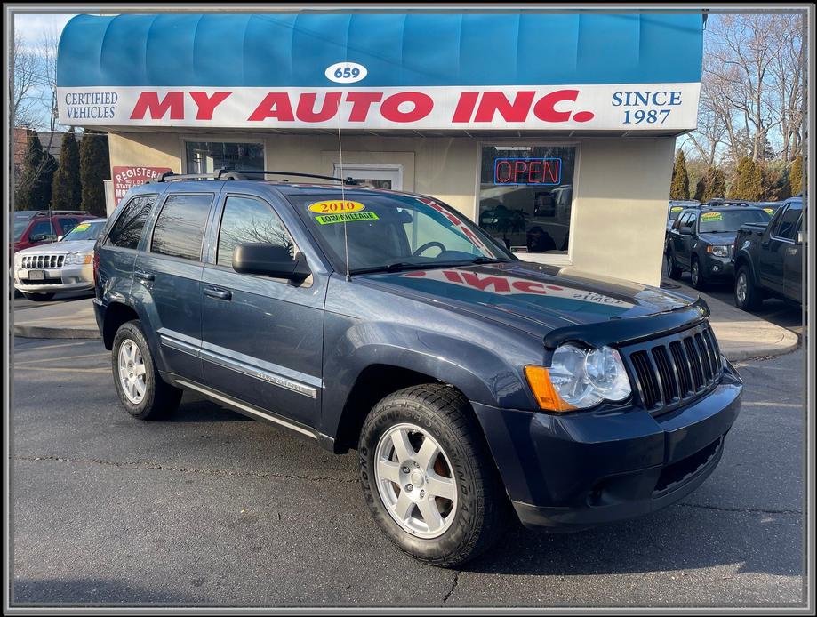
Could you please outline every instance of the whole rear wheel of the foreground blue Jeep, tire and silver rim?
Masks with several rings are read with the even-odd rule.
[[[134,418],[157,420],[179,406],[182,391],[162,381],[138,319],[119,326],[111,362],[119,401]]]

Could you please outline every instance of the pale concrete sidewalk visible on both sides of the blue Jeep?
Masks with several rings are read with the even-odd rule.
[[[677,281],[677,291],[693,298],[701,295],[712,311],[709,323],[715,330],[721,351],[731,361],[751,357],[780,356],[797,349],[797,334],[765,319],[746,313]],[[14,315],[14,334],[43,339],[98,339],[92,299],[28,308]]]

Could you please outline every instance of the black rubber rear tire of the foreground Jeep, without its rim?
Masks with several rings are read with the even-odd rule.
[[[139,349],[145,366],[145,392],[138,403],[133,403],[124,393],[122,381],[119,379],[119,349],[125,341],[132,341]],[[119,326],[114,336],[111,349],[111,369],[114,373],[114,384],[119,401],[134,418],[139,420],[161,420],[172,413],[179,406],[182,390],[165,383],[159,376],[153,354],[150,353],[148,341],[142,333],[138,319]]]

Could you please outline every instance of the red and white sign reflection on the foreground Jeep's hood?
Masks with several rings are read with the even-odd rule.
[[[602,304],[609,307],[632,308],[633,304],[611,298],[597,292],[589,292],[583,289],[572,289],[563,285],[533,281],[529,278],[517,278],[517,276],[504,275],[480,275],[477,272],[463,270],[419,270],[407,272],[403,275],[407,278],[422,278],[440,283],[450,283],[466,287],[477,292],[491,292],[499,295],[535,295],[550,296],[566,300],[579,300],[590,304]]]

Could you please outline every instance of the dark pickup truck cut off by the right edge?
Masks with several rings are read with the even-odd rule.
[[[778,297],[802,302],[803,198],[787,200],[767,224],[747,223],[734,240],[734,302],[757,310],[763,300]]]

